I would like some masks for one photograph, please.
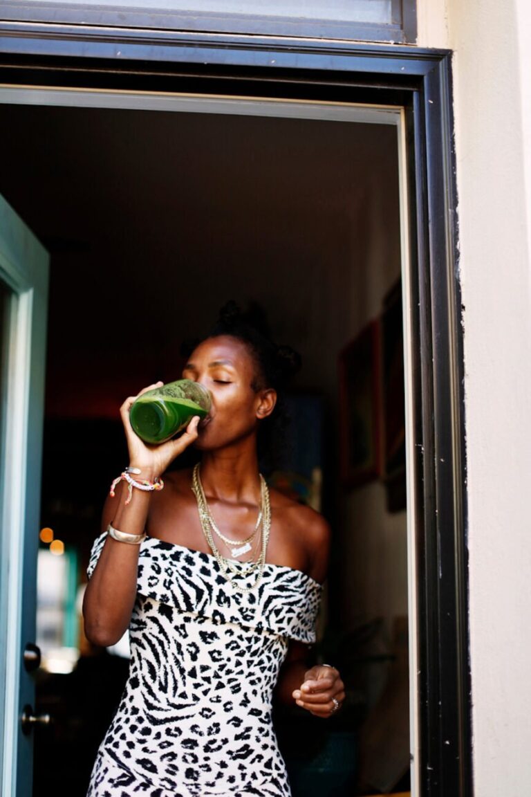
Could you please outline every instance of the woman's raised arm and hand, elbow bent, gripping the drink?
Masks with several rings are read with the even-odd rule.
[[[160,384],[162,383],[150,385],[141,392]],[[120,407],[129,462],[140,471],[137,479],[154,481],[197,438],[199,418],[195,416],[180,437],[160,446],[147,446],[137,437],[129,422],[129,410],[135,398],[137,397],[127,398]],[[116,488],[115,497],[109,496],[105,501],[102,532],[107,531],[108,524],[111,524],[119,532],[142,534],[146,528],[151,496],[150,492],[133,489],[131,502],[126,505],[127,489],[121,481]],[[129,626],[136,598],[139,548],[137,544],[118,542],[107,535],[83,599],[85,634],[95,645],[114,645]]]

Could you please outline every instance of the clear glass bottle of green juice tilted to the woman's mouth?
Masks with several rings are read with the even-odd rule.
[[[191,379],[154,387],[135,399],[129,410],[131,426],[146,443],[163,443],[188,426],[194,415],[205,418],[210,393]]]

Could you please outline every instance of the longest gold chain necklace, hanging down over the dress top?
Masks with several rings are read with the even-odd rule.
[[[221,556],[216,543],[214,542],[212,536],[212,530],[209,521],[209,505],[207,504],[205,493],[203,491],[203,485],[201,485],[201,478],[199,476],[199,463],[195,465],[193,468],[192,474],[192,492],[196,497],[197,501],[197,509],[199,512],[199,519],[201,520],[201,528],[203,529],[203,533],[205,534],[206,541],[209,544],[213,555],[215,556],[217,563],[220,567],[221,572],[225,576],[225,579],[229,583],[232,584],[232,587],[240,592],[251,592],[252,590],[256,589],[262,580],[264,575],[264,566],[265,566],[265,559],[266,559],[266,552],[267,552],[267,542],[269,540],[269,532],[271,530],[271,505],[269,501],[269,490],[267,489],[267,483],[260,473],[260,492],[261,492],[261,505],[262,505],[262,546],[260,550],[260,555],[255,560],[249,560],[248,562],[240,562],[240,567],[244,567],[244,571],[239,570],[235,567],[236,563],[231,562],[230,559],[225,559],[224,556]],[[257,531],[257,529],[256,529]],[[253,532],[254,536],[256,531]],[[240,583],[238,583],[238,579],[245,579],[248,575],[251,575],[252,572],[255,570],[258,571],[258,575],[256,576],[255,582],[252,583],[250,587],[242,587]],[[230,575],[236,576],[236,578],[232,578]]]

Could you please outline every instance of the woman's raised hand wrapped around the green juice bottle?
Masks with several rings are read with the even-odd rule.
[[[197,424],[200,421],[198,415],[194,415],[192,420],[186,426],[185,431],[179,434],[177,438],[172,438],[158,446],[152,446],[139,438],[131,426],[129,418],[129,411],[133,402],[139,398],[140,395],[151,391],[155,387],[161,387],[162,382],[156,382],[153,385],[144,387],[138,395],[126,398],[120,407],[120,416],[123,422],[127,439],[127,449],[129,450],[129,465],[133,468],[141,470],[141,477],[153,481],[164,473],[170,462],[174,461],[194,440],[197,440]]]

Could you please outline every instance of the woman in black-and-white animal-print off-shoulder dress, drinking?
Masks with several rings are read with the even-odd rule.
[[[100,646],[129,627],[131,667],[90,797],[288,797],[273,693],[317,717],[344,700],[336,669],[307,665],[329,527],[259,473],[260,426],[292,366],[232,308],[183,371],[209,389],[207,418],[148,446],[136,397],[121,407],[129,467],[103,509],[84,623]],[[192,444],[200,464],[166,473]]]

